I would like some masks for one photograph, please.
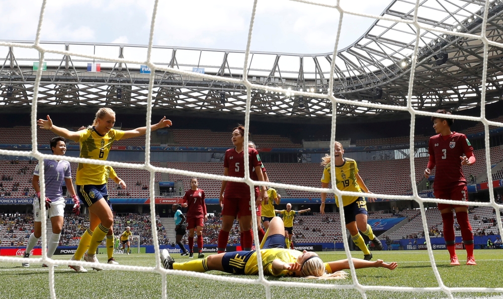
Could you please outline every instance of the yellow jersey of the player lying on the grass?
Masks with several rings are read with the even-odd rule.
[[[284,248],[270,248],[262,249],[260,251],[262,254],[262,266],[264,267],[264,275],[273,275],[273,261],[275,259],[280,259],[285,263],[293,263],[302,254],[298,250],[284,249]],[[257,263],[257,252],[251,254],[250,258],[244,266],[244,273],[246,275],[257,275],[259,274],[259,265]],[[290,276],[291,272],[288,270],[283,270],[281,273],[275,276]]]

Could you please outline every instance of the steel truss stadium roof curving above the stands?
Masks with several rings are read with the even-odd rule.
[[[421,1],[417,11],[418,23],[432,30],[420,31],[412,93],[414,109],[433,111],[442,107],[461,110],[480,105],[484,43],[457,33],[480,35],[484,6],[485,1],[480,0]],[[413,13],[414,3],[394,0],[381,16],[411,21]],[[487,45],[486,103],[498,101],[503,94],[502,15],[503,0],[491,2],[485,30],[485,36],[492,41]],[[356,42],[338,51],[332,92],[337,97],[358,102],[406,106],[415,42],[416,27],[413,24],[376,20]],[[144,73],[141,65],[64,55],[64,51],[143,61],[146,46],[79,42],[41,42],[41,45],[59,53],[45,54],[47,69],[42,72],[39,87],[39,110],[95,111],[102,106],[132,113],[145,110],[150,74]],[[0,69],[0,111],[29,111],[36,73],[34,63],[39,60],[39,52],[13,44],[0,46],[0,57],[5,57]],[[243,77],[244,51],[153,46],[151,57],[155,64],[174,69]],[[291,89],[286,94],[251,90],[253,118],[329,121],[331,103],[327,99],[298,96],[295,91],[327,93],[332,59],[331,52],[250,51],[246,74],[250,82]],[[101,71],[87,71],[88,63],[100,64]],[[206,117],[244,115],[246,88],[243,85],[165,71],[155,71],[153,77],[154,112],[170,110],[187,116]],[[338,105],[338,117],[343,118],[377,118],[393,113],[356,105]]]

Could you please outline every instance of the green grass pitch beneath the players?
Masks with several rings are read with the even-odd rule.
[[[354,257],[362,257],[361,252],[352,252]],[[374,259],[398,262],[393,271],[384,268],[357,270],[360,283],[364,285],[391,285],[411,287],[438,286],[426,251],[381,251],[373,252]],[[503,250],[476,250],[477,266],[466,266],[464,250],[458,250],[461,266],[450,266],[446,250],[434,251],[437,266],[444,283],[449,287],[503,287]],[[324,261],[343,259],[344,252],[320,252]],[[55,256],[56,259],[69,259],[70,256]],[[98,255],[106,262],[106,255]],[[176,261],[189,260],[174,255]],[[153,254],[116,255],[122,265],[154,266]],[[76,273],[65,266],[55,270],[55,287],[58,298],[160,298],[161,275],[148,272],[128,272],[116,270]],[[348,271],[349,272],[349,271]],[[230,275],[218,271],[218,275]],[[0,262],[0,298],[49,298],[48,268],[31,264],[30,268],[20,263]],[[245,276],[241,276],[245,277]],[[250,276],[247,276],[250,277]],[[255,276],[254,276],[255,277]],[[277,279],[277,278],[269,278]],[[330,284],[350,284],[351,276],[345,280],[312,280],[301,278],[279,278],[279,281],[316,282]],[[249,285],[212,281],[187,276],[167,276],[168,298],[265,298],[262,285]],[[361,298],[356,290],[324,290],[302,287],[272,287],[273,298]],[[371,298],[444,298],[443,292],[367,292]],[[503,296],[503,293],[455,293],[456,297]]]

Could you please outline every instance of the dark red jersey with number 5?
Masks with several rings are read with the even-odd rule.
[[[259,152],[254,148],[248,148],[250,177],[254,167],[261,167]],[[223,167],[229,168],[229,176],[244,177],[244,151],[238,153],[231,148],[225,152]],[[225,197],[250,198],[248,185],[245,183],[227,181]]]

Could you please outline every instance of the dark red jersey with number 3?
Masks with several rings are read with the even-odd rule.
[[[473,155],[473,147],[466,135],[453,132],[446,140],[441,134],[435,135],[430,138],[428,149],[430,163],[437,166],[434,189],[451,189],[466,184],[459,158],[463,154],[467,157]]]

